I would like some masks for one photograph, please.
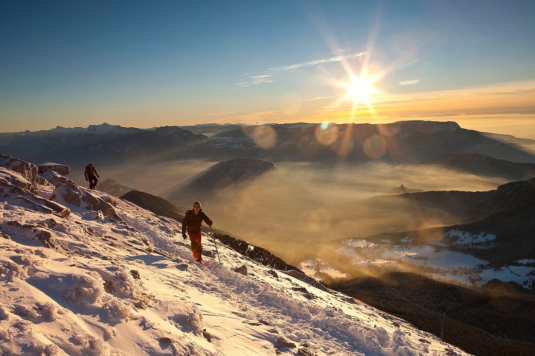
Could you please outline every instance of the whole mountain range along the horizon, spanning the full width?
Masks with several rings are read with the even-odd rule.
[[[0,152],[33,161],[97,164],[128,161],[255,158],[270,161],[347,161],[381,159],[419,162],[449,153],[485,154],[496,159],[535,163],[522,149],[529,140],[461,128],[456,122],[399,121],[386,124],[273,123],[151,129],[118,125],[0,133]],[[229,128],[233,128],[227,130]],[[219,132],[219,133],[218,133]],[[531,141],[530,141],[531,142]],[[47,152],[42,148],[47,147]]]

